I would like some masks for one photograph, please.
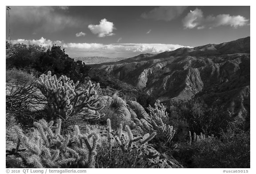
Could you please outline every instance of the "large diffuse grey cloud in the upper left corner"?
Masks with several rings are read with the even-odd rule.
[[[11,9],[11,25],[26,25],[36,32],[55,32],[66,27],[80,27],[85,23],[84,19],[63,13],[64,7],[60,10],[58,6],[12,6]]]

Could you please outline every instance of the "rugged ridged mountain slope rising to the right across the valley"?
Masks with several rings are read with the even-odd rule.
[[[140,54],[119,62],[92,65],[160,101],[204,99],[244,119],[250,112],[250,37]]]

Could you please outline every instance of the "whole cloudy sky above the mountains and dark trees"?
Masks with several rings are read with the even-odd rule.
[[[6,39],[129,58],[250,36],[250,6],[10,6]],[[10,19],[10,23],[9,23]]]

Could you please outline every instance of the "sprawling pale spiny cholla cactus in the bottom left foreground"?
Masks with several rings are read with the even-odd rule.
[[[68,135],[61,135],[60,119],[56,126],[53,126],[53,121],[47,123],[43,119],[34,124],[31,136],[15,128],[21,145],[28,150],[26,163],[36,168],[95,167],[98,135],[81,134],[78,126],[74,126]]]

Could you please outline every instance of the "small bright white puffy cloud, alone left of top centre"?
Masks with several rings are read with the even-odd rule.
[[[108,22],[107,19],[101,19],[99,25],[88,25],[88,28],[92,31],[93,34],[98,35],[98,37],[112,36],[115,35],[113,32],[114,23]]]

